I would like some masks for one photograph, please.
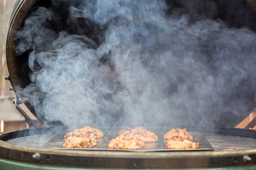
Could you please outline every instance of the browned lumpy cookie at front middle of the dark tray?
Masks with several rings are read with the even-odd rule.
[[[110,149],[142,149],[144,142],[133,135],[118,135],[108,144]]]

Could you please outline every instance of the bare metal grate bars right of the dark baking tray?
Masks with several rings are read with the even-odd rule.
[[[205,134],[216,151],[256,149],[256,139],[223,134]]]

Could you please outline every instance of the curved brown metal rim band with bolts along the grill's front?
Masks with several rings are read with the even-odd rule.
[[[5,153],[8,154],[5,155]],[[32,159],[32,156],[36,153],[40,154],[40,160]],[[254,159],[251,162],[244,162],[245,155]],[[109,168],[200,168],[256,165],[256,149],[241,151],[154,152],[152,154],[124,151],[53,150],[22,147],[4,141],[0,141],[0,157],[42,164]],[[186,165],[184,165],[184,162],[186,162]]]

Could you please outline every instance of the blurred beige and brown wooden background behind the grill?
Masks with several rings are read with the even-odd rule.
[[[30,128],[25,118],[16,110],[13,104],[15,93],[10,91],[11,84],[5,80],[8,75],[8,69],[5,60],[5,41],[8,32],[9,21],[12,9],[16,0],[0,0],[0,132]],[[24,105],[20,107],[33,119],[35,117],[28,111]],[[247,118],[241,120],[236,128],[245,128],[245,126],[256,117],[256,111],[252,112]],[[254,127],[256,129],[256,127]]]

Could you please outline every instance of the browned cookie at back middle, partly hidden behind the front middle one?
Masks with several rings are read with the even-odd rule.
[[[158,138],[154,132],[150,132],[147,129],[144,129],[142,126],[135,127],[134,129],[130,127],[125,127],[122,129],[119,134],[124,135],[133,135],[141,139],[143,142],[157,142]]]

